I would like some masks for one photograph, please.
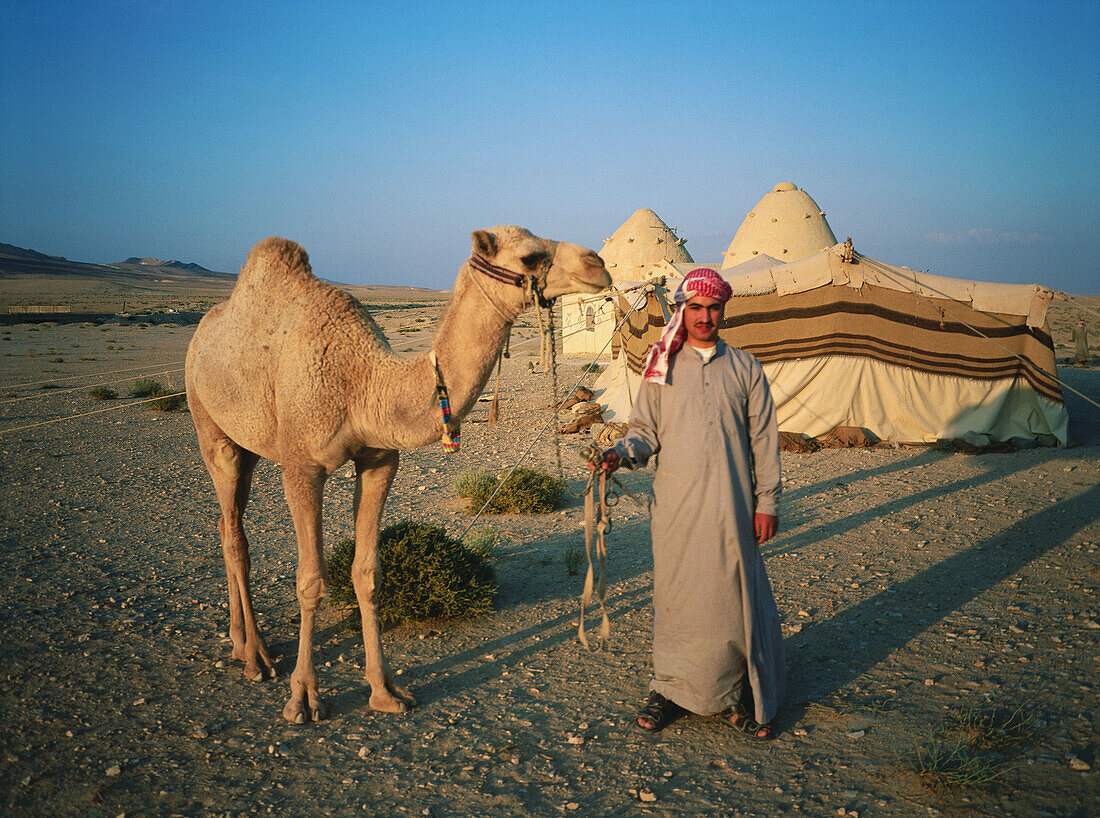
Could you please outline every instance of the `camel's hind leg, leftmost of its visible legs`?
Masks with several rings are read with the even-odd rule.
[[[233,659],[244,662],[244,675],[253,682],[274,678],[275,662],[260,635],[252,607],[249,586],[252,562],[242,521],[252,488],[252,473],[260,457],[231,441],[194,395],[188,396],[188,406],[195,420],[202,461],[213,479],[218,505],[221,506],[218,533],[221,535],[229,583],[229,635],[233,641]]]

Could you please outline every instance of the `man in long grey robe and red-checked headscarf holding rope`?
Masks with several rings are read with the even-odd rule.
[[[757,741],[783,700],[779,612],[759,544],[779,528],[779,433],[763,369],[718,340],[732,292],[713,269],[689,273],[650,349],[625,438],[602,467],[653,478],[653,681],[637,726],[685,710]],[[685,345],[686,343],[686,345]]]

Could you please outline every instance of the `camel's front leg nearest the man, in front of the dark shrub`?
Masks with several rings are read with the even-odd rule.
[[[416,700],[394,683],[394,674],[382,653],[382,632],[378,628],[378,518],[382,517],[389,484],[397,473],[397,452],[356,458],[355,473],[355,559],[351,577],[363,620],[365,678],[371,685],[371,708],[405,712]]]

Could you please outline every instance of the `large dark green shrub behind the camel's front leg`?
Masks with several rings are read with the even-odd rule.
[[[355,543],[344,538],[328,559],[329,597],[355,606],[351,564]],[[443,529],[405,520],[378,537],[378,619],[383,627],[422,619],[465,619],[493,609],[497,584],[485,557]],[[358,607],[352,620],[359,621]]]

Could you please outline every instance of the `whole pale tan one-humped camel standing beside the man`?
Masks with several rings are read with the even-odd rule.
[[[598,292],[610,278],[594,252],[539,239],[515,225],[472,233],[429,353],[400,357],[367,310],[316,278],[296,243],[256,244],[229,300],[202,319],[187,350],[187,400],[213,480],[229,584],[233,659],[253,681],[275,663],[256,627],[242,518],[260,457],[277,462],[298,540],[298,657],[288,721],[327,717],[312,660],[314,619],[326,595],[321,501],[326,479],[355,466],[352,583],[363,620],[370,706],[404,712],[416,703],[398,687],[382,651],[376,588],[378,518],[403,449],[438,443],[437,384],[460,421],[485,387],[513,322],[535,297]]]

